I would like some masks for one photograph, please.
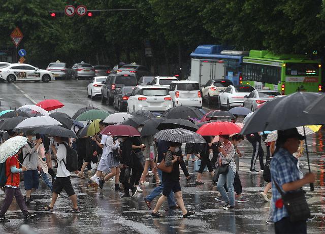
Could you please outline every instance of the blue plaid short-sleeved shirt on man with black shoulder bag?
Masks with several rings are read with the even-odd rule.
[[[280,148],[271,160],[272,202],[274,206],[273,222],[280,221],[283,217],[288,216],[284,205],[282,208],[275,206],[276,201],[281,198],[281,193],[277,190],[274,181],[276,181],[282,192],[284,192],[282,189],[283,184],[299,180],[297,161],[298,159],[294,155],[283,148]]]

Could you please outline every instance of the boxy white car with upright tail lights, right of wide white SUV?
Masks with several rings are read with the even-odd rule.
[[[173,107],[202,107],[201,91],[197,81],[173,81],[169,87],[169,94],[172,98]]]

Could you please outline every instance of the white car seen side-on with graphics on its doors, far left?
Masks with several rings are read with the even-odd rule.
[[[10,83],[14,81],[49,82],[53,80],[53,73],[25,63],[12,63],[0,69],[0,79]]]

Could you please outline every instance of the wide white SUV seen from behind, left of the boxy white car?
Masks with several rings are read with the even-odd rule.
[[[137,86],[127,99],[127,111],[167,111],[173,106],[172,98],[166,87],[157,85]]]

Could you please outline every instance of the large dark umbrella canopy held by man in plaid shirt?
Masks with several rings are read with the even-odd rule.
[[[266,130],[285,130],[304,125],[324,122],[321,115],[303,112],[322,94],[313,92],[296,92],[267,102],[255,111],[242,129],[242,134]]]

